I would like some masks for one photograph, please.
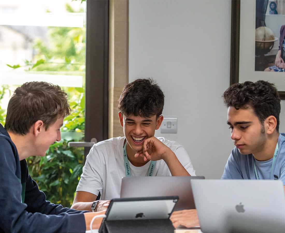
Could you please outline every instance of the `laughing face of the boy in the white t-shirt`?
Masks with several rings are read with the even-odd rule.
[[[134,151],[142,149],[146,138],[154,136],[154,132],[162,123],[163,116],[141,117],[129,115],[125,116],[119,112],[120,124],[124,128],[124,135],[129,146]]]

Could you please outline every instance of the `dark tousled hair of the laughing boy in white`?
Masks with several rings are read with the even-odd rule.
[[[162,114],[164,94],[153,79],[136,79],[124,87],[118,102],[119,111],[126,116],[158,117]]]

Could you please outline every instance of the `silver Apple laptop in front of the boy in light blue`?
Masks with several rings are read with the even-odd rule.
[[[204,233],[227,232],[227,219],[285,221],[285,196],[278,180],[192,180],[193,196]]]

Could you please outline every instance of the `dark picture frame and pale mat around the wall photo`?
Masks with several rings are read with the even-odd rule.
[[[230,85],[269,81],[276,85],[280,99],[285,99],[284,72],[255,71],[255,7],[255,0],[232,0]]]

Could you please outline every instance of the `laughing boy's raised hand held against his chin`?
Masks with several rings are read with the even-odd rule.
[[[164,145],[160,140],[156,137],[147,138],[143,142],[142,150],[138,151],[135,154],[135,158],[141,156],[144,161],[147,160],[161,160],[165,159],[167,153],[172,152],[170,148]]]

